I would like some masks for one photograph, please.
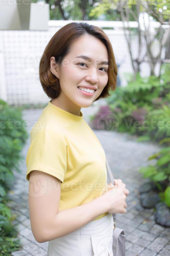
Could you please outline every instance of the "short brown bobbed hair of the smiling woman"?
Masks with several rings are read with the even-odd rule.
[[[57,98],[61,90],[59,79],[50,71],[50,58],[54,56],[56,63],[60,65],[64,59],[64,56],[67,55],[69,51],[71,42],[83,34],[92,35],[101,40],[108,51],[108,82],[100,96],[96,98],[95,101],[99,100],[99,98],[106,98],[110,96],[109,90],[114,91],[116,89],[117,65],[115,62],[112,44],[110,43],[107,35],[101,28],[94,25],[89,25],[86,22],[71,22],[60,28],[54,34],[54,36],[50,39],[49,43],[45,47],[44,53],[40,60],[40,82],[44,92],[48,95],[49,98]]]

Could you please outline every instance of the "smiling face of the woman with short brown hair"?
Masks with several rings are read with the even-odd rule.
[[[91,60],[77,56],[87,56]],[[51,67],[54,57],[51,57]],[[50,61],[51,61],[50,59]],[[74,40],[69,53],[64,57],[60,66],[51,70],[60,80],[60,98],[79,107],[89,107],[100,96],[108,82],[108,53],[106,46],[96,37],[82,35]],[[91,86],[94,93],[80,90],[78,87]],[[70,104],[69,103],[69,104]]]

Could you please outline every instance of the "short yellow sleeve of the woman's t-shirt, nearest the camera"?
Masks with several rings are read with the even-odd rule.
[[[37,129],[36,129],[37,128]],[[64,180],[67,169],[67,142],[58,129],[46,125],[42,130],[34,126],[30,132],[30,146],[26,158],[29,181],[30,172],[43,171]]]

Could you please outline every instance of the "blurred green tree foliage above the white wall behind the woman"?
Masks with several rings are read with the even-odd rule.
[[[39,0],[33,0],[32,3],[37,3]],[[128,6],[134,14],[137,14],[137,4],[140,3],[140,11],[146,5],[149,5],[151,14],[160,16],[159,10],[162,9],[162,17],[165,21],[169,20],[170,2],[169,1],[136,1],[136,0],[45,0],[50,6],[50,20],[117,20],[121,21],[121,11]],[[167,6],[167,9],[163,8]],[[155,17],[156,18],[156,17]],[[129,20],[134,21],[134,15],[129,14]]]

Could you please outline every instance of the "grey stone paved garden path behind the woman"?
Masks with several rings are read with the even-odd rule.
[[[89,115],[95,113],[99,105],[94,104],[89,108],[82,108],[84,119],[89,122]],[[42,109],[23,110],[23,119],[29,121],[28,133],[38,120]],[[127,237],[126,255],[140,256],[168,256],[170,255],[170,228],[162,227],[155,223],[153,210],[144,209],[140,206],[139,186],[146,180],[139,173],[140,166],[148,165],[147,158],[159,150],[155,143],[136,142],[136,136],[127,133],[106,135],[102,131],[94,130],[99,138],[113,172],[114,178],[121,178],[129,189],[127,212],[117,214],[117,227],[123,228]],[[12,213],[16,214],[14,221],[18,229],[18,237],[21,238],[23,249],[13,252],[11,255],[47,255],[48,242],[38,243],[31,231],[28,206],[28,181],[25,179],[25,159],[30,144],[30,138],[25,144],[22,155],[23,162],[20,163],[21,173],[15,172],[16,180],[11,188],[9,206]],[[153,160],[152,160],[153,161]],[[149,163],[152,164],[153,162]],[[108,182],[110,182],[108,177]],[[64,255],[63,255],[64,256]],[[71,255],[72,256],[72,255]],[[77,256],[77,255],[73,255]],[[87,255],[88,256],[88,255]],[[103,255],[104,256],[104,255]]]

